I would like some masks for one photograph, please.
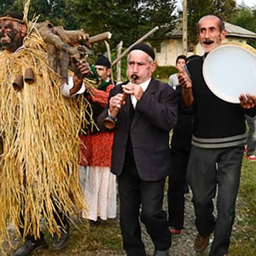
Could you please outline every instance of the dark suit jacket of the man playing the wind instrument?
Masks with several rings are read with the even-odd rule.
[[[118,84],[109,93],[109,99],[122,93]],[[127,95],[116,122],[112,150],[111,172],[120,175],[124,169],[127,139],[131,136],[134,161],[142,180],[164,179],[170,172],[169,132],[177,122],[177,93],[166,83],[154,78],[137,102],[130,127],[131,97]],[[103,120],[108,106],[100,114],[98,124],[106,130]]]

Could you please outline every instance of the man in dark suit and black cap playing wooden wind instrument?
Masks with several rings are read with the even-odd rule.
[[[152,78],[154,58],[154,50],[147,44],[131,48],[127,58],[130,80],[111,90],[108,106],[98,118],[104,129],[104,118],[127,93],[114,130],[111,172],[118,180],[120,227],[129,256],[146,255],[139,218],[154,243],[154,255],[168,255],[171,245],[162,205],[164,180],[170,171],[168,141],[177,118],[177,95],[168,84]]]

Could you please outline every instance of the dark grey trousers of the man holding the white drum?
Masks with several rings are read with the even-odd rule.
[[[193,146],[188,163],[188,182],[193,191],[196,228],[201,236],[214,232],[210,256],[228,253],[235,218],[244,147],[198,148]],[[218,215],[212,199],[217,195]]]

